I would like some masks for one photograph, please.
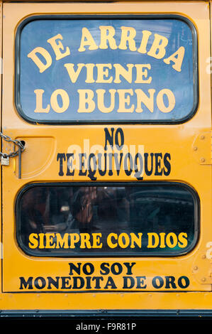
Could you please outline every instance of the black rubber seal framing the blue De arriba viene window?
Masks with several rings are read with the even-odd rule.
[[[71,19],[71,20],[87,20],[87,19],[125,19],[128,18],[130,20],[135,19],[177,19],[180,21],[184,21],[189,28],[191,29],[192,38],[193,38],[193,80],[194,80],[194,104],[191,109],[191,112],[182,119],[177,120],[114,120],[114,121],[55,121],[55,120],[43,120],[38,121],[36,119],[31,119],[30,117],[26,117],[26,115],[23,112],[23,109],[21,107],[21,101],[20,101],[20,42],[21,42],[21,30],[23,29],[26,24],[28,24],[30,21],[45,19],[45,20],[62,20],[62,19]],[[174,15],[174,14],[143,14],[143,15],[133,15],[133,14],[120,14],[120,15],[114,15],[114,14],[105,14],[105,15],[39,15],[39,16],[30,16],[29,18],[26,18],[24,21],[20,23],[20,25],[17,28],[16,31],[16,41],[15,41],[15,106],[18,111],[18,114],[21,115],[21,117],[26,120],[29,123],[32,124],[56,124],[56,125],[67,125],[67,124],[182,124],[186,121],[189,121],[194,114],[196,113],[198,106],[199,106],[199,75],[198,75],[198,43],[197,43],[197,34],[196,34],[196,28],[194,27],[194,24],[189,21],[188,18],[180,15]]]

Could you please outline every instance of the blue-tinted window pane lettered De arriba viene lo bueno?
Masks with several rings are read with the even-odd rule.
[[[16,34],[28,122],[184,122],[198,103],[196,31],[181,16],[38,16]]]

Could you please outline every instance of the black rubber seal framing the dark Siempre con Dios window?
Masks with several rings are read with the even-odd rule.
[[[117,253],[116,251],[108,253],[108,254],[98,254],[97,252],[84,252],[82,254],[57,254],[56,252],[52,255],[50,255],[50,253],[48,252],[40,252],[39,254],[36,252],[30,251],[30,249],[26,248],[25,245],[23,244],[23,242],[21,242],[20,238],[19,238],[19,234],[20,234],[20,226],[21,226],[21,218],[20,218],[20,202],[21,202],[21,197],[23,195],[23,193],[26,193],[26,191],[28,191],[30,188],[33,187],[79,187],[79,186],[90,186],[90,187],[97,187],[97,186],[126,186],[126,185],[131,185],[131,186],[168,186],[168,187],[172,187],[172,186],[177,186],[179,188],[184,188],[186,189],[189,193],[191,193],[193,199],[194,199],[194,240],[193,242],[191,242],[191,244],[189,245],[189,247],[187,247],[186,249],[182,249],[182,252],[170,252],[170,253],[160,253],[157,252],[157,254],[151,254],[151,253],[147,253],[147,252],[140,252],[140,253],[128,253],[125,252],[123,250],[123,252],[121,253]],[[180,183],[180,182],[170,182],[170,181],[144,181],[142,183],[138,183],[138,182],[95,182],[95,183],[90,183],[90,182],[84,182],[84,183],[80,183],[80,182],[74,182],[74,183],[68,183],[68,182],[54,182],[54,183],[30,183],[28,185],[26,185],[25,187],[23,187],[21,189],[21,191],[18,193],[17,197],[16,197],[16,205],[15,205],[15,217],[16,217],[16,240],[18,243],[18,246],[21,247],[21,249],[23,250],[23,252],[25,252],[26,254],[32,256],[32,257],[48,257],[48,258],[90,258],[90,259],[96,259],[96,258],[113,258],[113,257],[118,257],[120,259],[122,258],[130,258],[130,257],[138,257],[138,258],[145,258],[145,257],[150,257],[152,259],[155,259],[157,257],[179,257],[182,256],[184,254],[188,254],[189,252],[191,252],[192,249],[194,249],[196,243],[199,240],[199,217],[200,217],[200,200],[199,200],[199,196],[196,193],[196,191],[191,188],[189,185],[186,185],[185,183]]]

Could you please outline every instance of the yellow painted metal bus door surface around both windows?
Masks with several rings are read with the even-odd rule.
[[[57,153],[68,153],[70,146],[75,145],[84,151],[92,146],[104,145],[104,125],[52,126],[29,124],[23,121],[14,105],[14,38],[18,24],[24,18],[40,14],[179,14],[194,23],[199,41],[199,107],[191,119],[183,124],[172,125],[123,125],[125,144],[143,145],[147,152],[169,152],[172,157],[172,169],[169,176],[145,176],[145,181],[177,181],[190,185],[200,198],[200,235],[199,242],[192,252],[174,258],[127,258],[120,259],[60,259],[33,258],[23,254],[16,242],[16,226],[14,201],[18,192],[27,184],[34,182],[90,181],[88,176],[79,173],[70,178],[59,176]],[[210,21],[209,6],[206,2],[191,1],[179,4],[174,2],[138,2],[112,4],[4,4],[4,78],[3,78],[3,131],[13,139],[26,141],[26,150],[22,155],[22,178],[18,179],[18,161],[11,160],[10,166],[3,167],[3,293],[0,296],[1,309],[175,309],[175,308],[211,308],[211,264],[208,244],[212,240],[211,226],[211,77],[206,72],[206,63],[210,57]],[[6,74],[5,74],[6,73]],[[108,126],[110,128],[111,126]],[[119,126],[113,126],[115,130]],[[202,144],[203,138],[206,144]],[[209,137],[208,137],[209,136]],[[88,146],[89,143],[89,146]],[[197,148],[194,149],[194,148]],[[42,153],[40,152],[42,151]],[[88,152],[87,151],[87,152]],[[209,153],[208,153],[209,152]],[[39,153],[39,154],[38,154]],[[197,154],[196,154],[197,153]],[[203,161],[203,159],[205,159]],[[66,166],[64,166],[65,171]],[[77,170],[77,166],[76,166]],[[121,171],[120,176],[99,176],[98,181],[136,181],[127,178]],[[54,290],[57,293],[43,293],[48,286],[33,292],[20,290],[21,276],[47,279],[48,276],[69,276],[69,262],[94,264],[95,275],[99,276],[100,265],[108,262],[110,266],[116,262],[123,266],[125,262],[135,262],[133,278],[145,276],[147,289],[142,283],[134,285],[128,293],[106,291],[108,277],[104,277],[101,289],[104,293],[84,293],[73,291],[68,293]],[[11,270],[12,266],[12,270]],[[85,279],[85,274],[82,278]],[[186,292],[177,287],[177,293],[164,285],[160,291],[152,286],[152,279],[160,276],[174,276],[179,283],[182,276],[188,277],[190,284]],[[116,281],[117,290],[123,287],[122,277],[111,274]],[[40,281],[39,281],[40,284]],[[41,282],[42,284],[42,282]],[[17,292],[18,293],[13,293]],[[68,290],[69,291],[69,290]],[[86,287],[82,291],[87,291]],[[80,291],[82,293],[82,291]],[[106,291],[106,292],[105,292]],[[135,293],[133,292],[135,291]],[[202,291],[194,293],[194,291]],[[10,292],[10,293],[9,293]],[[8,294],[9,293],[9,294]],[[195,303],[194,303],[195,301]]]

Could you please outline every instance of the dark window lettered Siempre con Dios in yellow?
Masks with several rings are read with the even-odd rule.
[[[181,183],[30,185],[16,235],[34,256],[176,256],[196,244],[198,210]]]

